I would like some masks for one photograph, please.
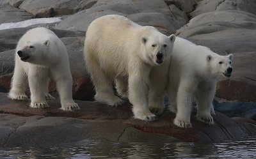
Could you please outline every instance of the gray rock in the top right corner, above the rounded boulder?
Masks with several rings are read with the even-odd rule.
[[[198,2],[195,11],[190,15],[196,17],[202,13],[221,10],[241,10],[256,15],[256,1],[254,0],[203,0]]]

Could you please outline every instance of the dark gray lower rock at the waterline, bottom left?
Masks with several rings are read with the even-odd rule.
[[[0,130],[0,146],[58,146],[84,140],[151,143],[177,141],[174,137],[142,132],[120,121],[90,121],[71,117],[0,114]]]

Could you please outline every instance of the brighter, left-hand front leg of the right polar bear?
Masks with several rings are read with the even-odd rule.
[[[177,114],[174,119],[174,124],[181,128],[191,128],[191,104],[195,92],[196,82],[190,81],[189,78],[181,80],[178,95],[177,95]]]

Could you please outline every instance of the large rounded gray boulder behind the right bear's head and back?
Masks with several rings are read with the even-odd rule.
[[[212,11],[191,19],[177,33],[220,54],[250,52],[256,49],[256,16],[244,11]]]

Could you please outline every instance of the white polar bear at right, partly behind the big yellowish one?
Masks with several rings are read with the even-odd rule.
[[[177,37],[170,61],[169,82],[166,88],[170,97],[170,110],[176,113],[174,124],[191,127],[191,105],[197,103],[196,117],[213,125],[212,100],[218,77],[230,77],[233,55],[220,56],[209,48],[195,45]]]

